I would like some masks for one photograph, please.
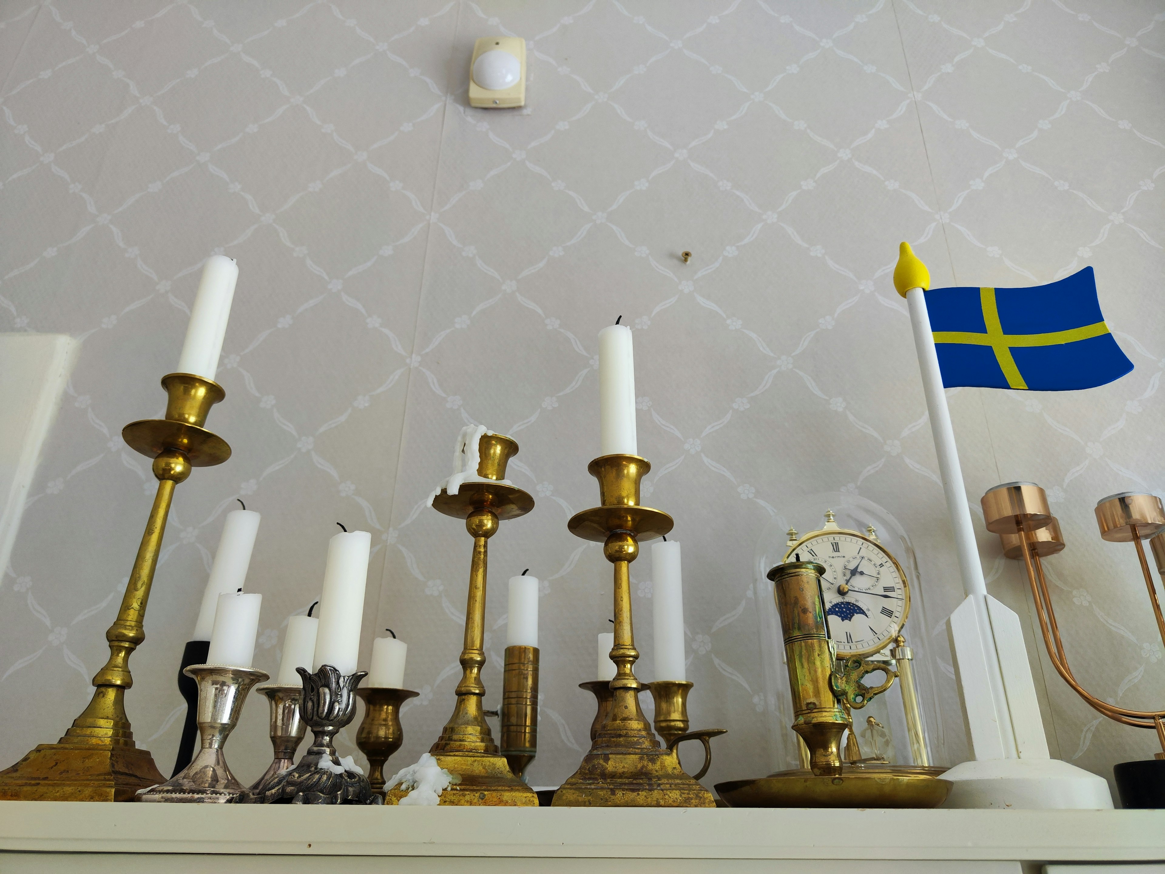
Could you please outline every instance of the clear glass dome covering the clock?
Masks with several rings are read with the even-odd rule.
[[[820,492],[786,500],[762,531],[754,555],[754,585],[760,611],[761,653],[764,677],[764,709],[769,713],[768,754],[772,771],[803,767],[798,750],[800,739],[790,725],[793,721],[789,674],[785,667],[781,618],[774,600],[769,570],[785,561],[785,554],[799,538],[826,527],[826,513],[843,531],[856,531],[876,540],[902,566],[910,586],[910,613],[902,635],[913,651],[911,667],[917,691],[919,719],[915,742],[908,727],[902,684],[894,685],[868,706],[853,711],[857,748],[862,757],[882,759],[891,764],[949,764],[938,711],[935,660],[929,640],[931,623],[926,616],[925,582],[919,578],[918,562],[910,537],[884,508],[860,495],[845,492]],[[873,528],[873,535],[870,529]],[[803,555],[802,558],[805,558]],[[891,643],[869,660],[884,660],[894,667]],[[944,681],[947,678],[944,676]],[[949,681],[953,683],[953,681]],[[848,741],[848,735],[846,741]],[[919,743],[922,749],[919,750]],[[849,747],[853,752],[854,747]],[[843,756],[845,757],[845,756]]]

